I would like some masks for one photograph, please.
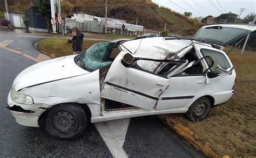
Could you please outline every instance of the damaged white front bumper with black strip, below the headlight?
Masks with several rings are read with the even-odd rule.
[[[36,108],[32,108],[35,106]],[[12,116],[15,117],[18,124],[30,127],[39,127],[38,119],[46,108],[40,108],[36,105],[25,105],[15,103],[10,94],[8,95],[8,106]]]

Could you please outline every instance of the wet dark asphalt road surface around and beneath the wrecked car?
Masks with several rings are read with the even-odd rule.
[[[36,51],[33,44],[42,38],[47,37],[0,32],[0,42],[12,40],[6,46],[9,49],[4,49],[3,45],[0,45],[0,157],[112,157],[106,139],[98,132],[102,126],[96,128],[94,124],[88,124],[82,137],[72,141],[59,140],[50,137],[40,128],[17,124],[9,110],[5,108],[8,92],[15,77],[23,69],[36,63],[11,50],[17,51],[21,48],[19,52],[37,58],[40,52]],[[112,124],[114,125],[114,122]],[[129,157],[205,157],[155,117],[132,118],[129,119],[128,125],[123,150]],[[119,126],[114,128],[119,131]]]

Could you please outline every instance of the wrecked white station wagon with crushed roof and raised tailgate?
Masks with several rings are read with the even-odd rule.
[[[17,123],[58,138],[91,123],[163,113],[204,119],[233,95],[235,70],[221,51],[255,30],[202,27],[194,38],[139,37],[93,45],[81,55],[37,63],[20,73],[8,96]]]

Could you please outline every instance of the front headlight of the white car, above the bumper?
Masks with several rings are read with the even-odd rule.
[[[11,99],[14,100],[14,102],[19,103],[19,104],[33,104],[33,99],[30,96],[24,95],[19,93],[18,91],[15,90],[15,87],[11,88]]]

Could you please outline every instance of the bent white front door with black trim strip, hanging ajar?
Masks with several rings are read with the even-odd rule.
[[[100,96],[146,110],[154,109],[169,85],[168,78],[144,69],[125,67],[121,62],[124,53],[121,52],[111,64]]]

